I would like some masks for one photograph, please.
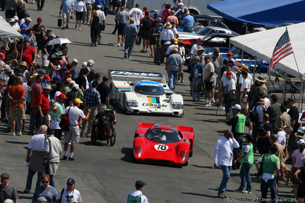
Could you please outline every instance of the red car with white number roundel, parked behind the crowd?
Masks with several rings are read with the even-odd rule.
[[[225,34],[225,33],[209,34],[209,35],[206,35],[205,37],[203,37],[203,43],[201,44],[201,46],[203,48],[204,47],[225,47],[225,48],[229,48],[229,39],[231,37],[236,37],[236,36],[232,35],[232,34]],[[192,46],[197,43],[197,39],[182,40],[185,44],[185,55],[190,53]]]

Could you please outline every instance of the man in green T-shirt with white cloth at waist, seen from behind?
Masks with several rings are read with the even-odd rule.
[[[255,175],[257,177],[262,177],[260,182],[260,191],[263,201],[265,203],[267,199],[268,187],[271,191],[271,203],[276,202],[276,177],[280,171],[280,159],[275,156],[275,153],[278,151],[278,146],[273,144],[270,147],[269,154],[264,154],[261,156],[255,163],[257,172]],[[260,163],[260,167],[258,164]]]

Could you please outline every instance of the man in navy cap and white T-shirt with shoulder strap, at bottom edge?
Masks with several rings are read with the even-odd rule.
[[[68,201],[71,199],[74,201]],[[75,180],[73,178],[68,178],[67,187],[59,191],[55,198],[55,203],[68,203],[68,202],[77,202],[81,203],[81,194],[78,190],[75,189]]]

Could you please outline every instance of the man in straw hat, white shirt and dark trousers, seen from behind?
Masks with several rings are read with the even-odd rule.
[[[164,61],[164,52],[167,51],[168,47],[171,44],[171,40],[174,39],[174,33],[173,33],[173,31],[170,30],[170,28],[171,28],[171,24],[170,24],[170,22],[167,22],[165,24],[165,29],[161,31],[161,34],[160,34],[161,48],[160,48],[158,56],[155,56],[155,57],[157,57],[156,65],[160,65],[160,62]]]

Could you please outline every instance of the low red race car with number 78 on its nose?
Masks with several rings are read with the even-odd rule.
[[[192,127],[140,123],[135,131],[133,159],[187,166],[193,155],[194,137]]]

